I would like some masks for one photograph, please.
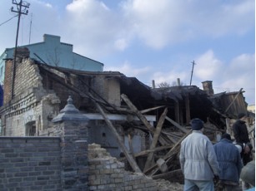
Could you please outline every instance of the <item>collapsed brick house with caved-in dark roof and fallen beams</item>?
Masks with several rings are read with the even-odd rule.
[[[214,142],[247,106],[242,90],[214,95],[212,81],[204,81],[203,90],[151,88],[118,71],[50,66],[31,59],[26,48],[16,63],[13,76],[13,59],[5,62],[2,136],[53,136],[53,119],[70,96],[89,120],[89,144],[101,144],[123,162],[132,155],[139,169],[153,179],[180,175],[177,154],[191,132],[190,120],[202,119]],[[136,169],[131,163],[127,168]]]

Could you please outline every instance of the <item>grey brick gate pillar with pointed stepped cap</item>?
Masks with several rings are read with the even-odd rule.
[[[52,121],[61,137],[62,190],[88,190],[88,118],[69,96],[68,105]]]

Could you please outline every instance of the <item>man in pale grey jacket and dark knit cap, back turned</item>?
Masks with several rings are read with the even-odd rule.
[[[191,121],[192,134],[181,143],[179,162],[184,175],[184,191],[213,191],[219,166],[213,144],[203,135],[203,120]]]

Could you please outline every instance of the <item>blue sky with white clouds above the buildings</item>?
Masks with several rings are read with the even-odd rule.
[[[12,2],[0,2],[0,55],[15,47]],[[104,71],[120,71],[147,86],[153,80],[172,86],[179,78],[203,89],[203,81],[213,81],[214,93],[243,88],[245,101],[255,104],[254,0],[27,2],[18,46],[56,35],[74,52],[102,62]]]

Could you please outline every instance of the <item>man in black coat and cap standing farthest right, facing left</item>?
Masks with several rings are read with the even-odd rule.
[[[249,161],[252,160],[251,149],[252,144],[248,139],[248,130],[245,125],[247,115],[244,113],[238,114],[238,120],[233,124],[233,136],[237,144],[240,144],[242,147],[241,157],[243,159],[243,165],[246,165]]]

